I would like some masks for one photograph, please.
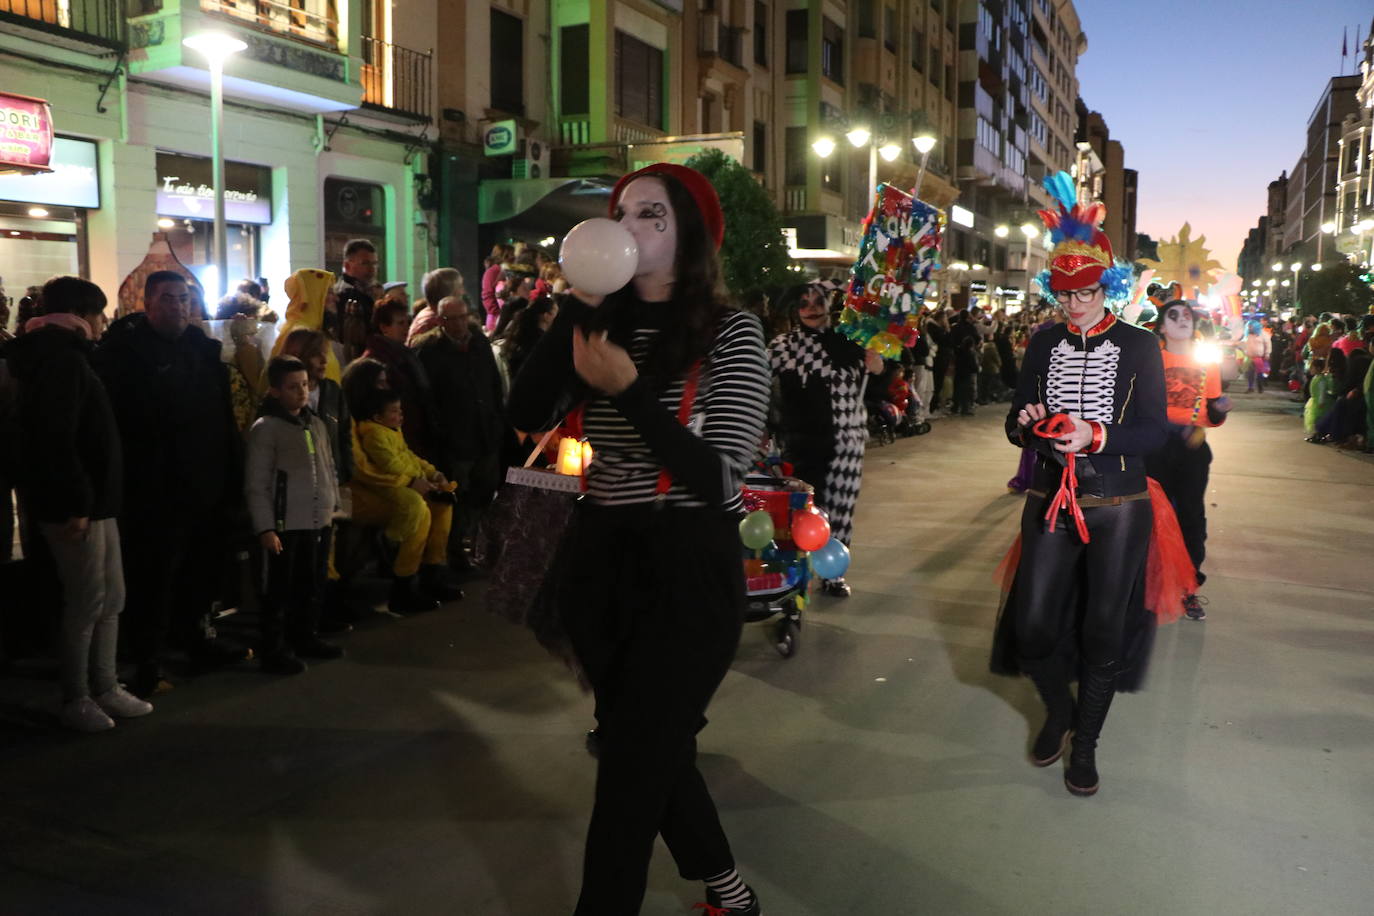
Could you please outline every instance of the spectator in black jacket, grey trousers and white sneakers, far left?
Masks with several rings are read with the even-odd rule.
[[[5,349],[19,382],[22,488],[62,580],[62,724],[102,732],[114,718],[153,711],[115,678],[124,468],[114,412],[89,364],[106,298],[88,280],[59,276],[44,284],[43,301],[47,314]]]

